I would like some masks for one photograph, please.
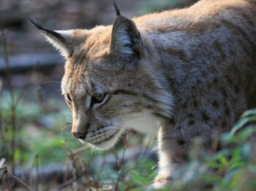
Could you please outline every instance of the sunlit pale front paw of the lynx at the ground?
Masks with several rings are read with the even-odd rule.
[[[154,179],[154,183],[153,183],[152,187],[155,190],[162,189],[162,188],[169,186],[170,182],[171,182],[170,171],[162,171]]]

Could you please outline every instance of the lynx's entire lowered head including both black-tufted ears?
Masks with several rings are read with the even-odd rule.
[[[157,130],[172,103],[152,69],[150,42],[117,13],[113,26],[91,30],[51,31],[31,20],[66,59],[61,90],[73,136],[97,149],[113,147],[127,128]]]

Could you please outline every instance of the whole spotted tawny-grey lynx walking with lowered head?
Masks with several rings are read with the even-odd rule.
[[[201,0],[133,19],[116,12],[113,25],[91,30],[31,22],[66,58],[72,135],[110,149],[130,128],[156,134],[158,189],[186,163],[193,138],[210,147],[256,106],[256,1]]]

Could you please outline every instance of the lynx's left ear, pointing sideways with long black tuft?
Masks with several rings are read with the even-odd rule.
[[[31,23],[36,26],[39,31],[45,35],[46,39],[50,44],[53,44],[53,47],[55,47],[61,55],[63,55],[65,58],[72,55],[72,52],[75,49],[75,46],[77,45],[75,41],[75,37],[72,33],[72,30],[67,31],[51,31],[46,28],[42,28],[42,26],[37,23],[37,21],[32,20],[28,18]]]

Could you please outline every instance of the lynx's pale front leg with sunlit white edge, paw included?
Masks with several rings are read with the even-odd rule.
[[[154,180],[154,189],[162,189],[170,185],[173,172],[179,165],[185,163],[184,143],[173,139],[172,128],[159,128],[158,157],[159,172]]]

